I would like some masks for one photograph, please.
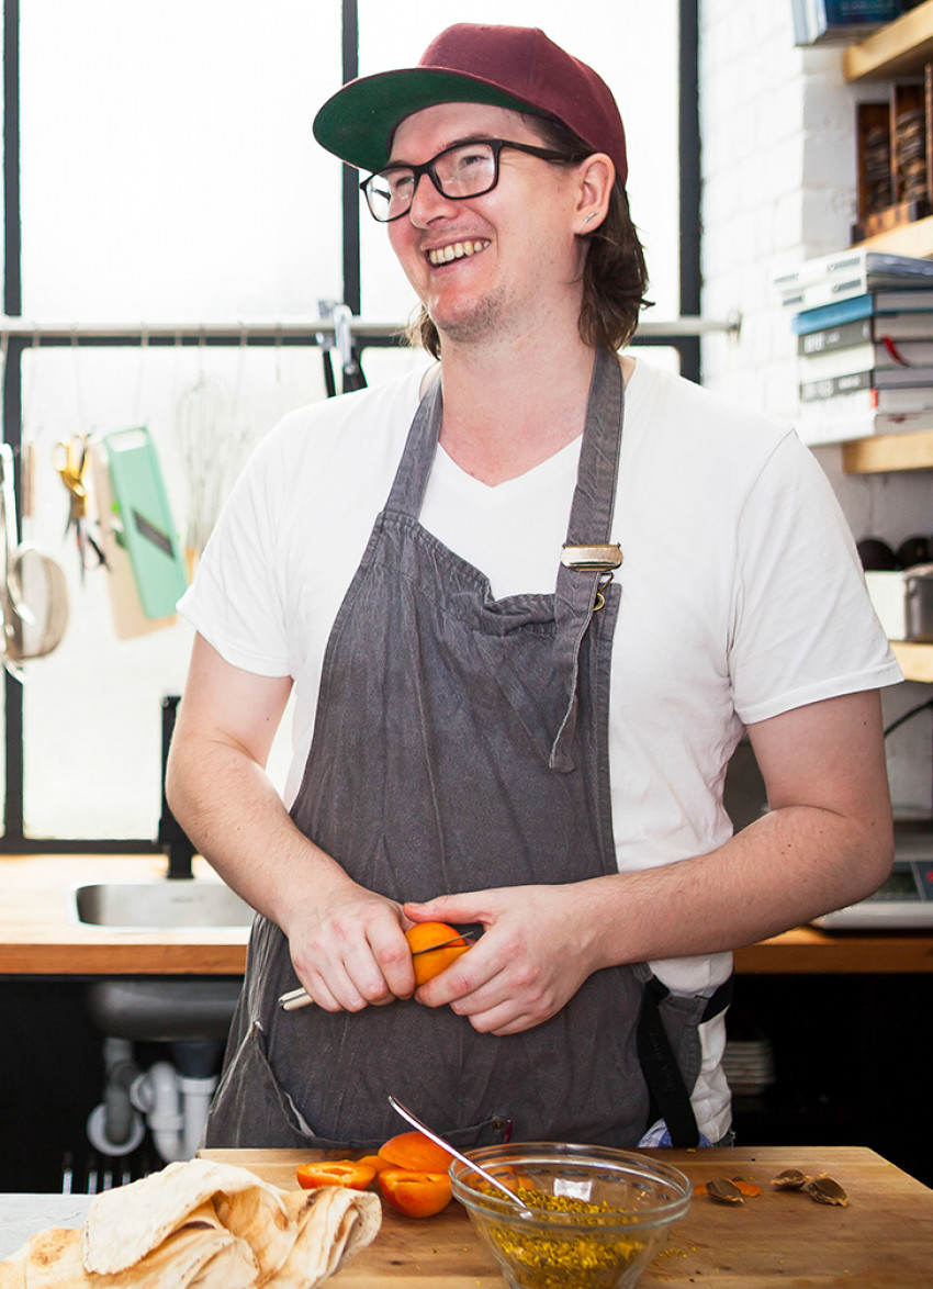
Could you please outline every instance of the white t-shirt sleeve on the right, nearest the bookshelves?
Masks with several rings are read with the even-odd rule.
[[[744,723],[902,679],[836,496],[796,434],[758,474],[737,547],[729,670]]]

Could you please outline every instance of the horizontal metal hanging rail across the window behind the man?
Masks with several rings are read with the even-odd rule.
[[[354,339],[370,343],[402,344],[405,327],[392,322],[366,322],[352,318]],[[684,317],[668,322],[640,322],[638,340],[677,339],[715,333],[736,334],[738,318]],[[27,317],[0,315],[0,339],[22,339],[32,344],[332,344],[334,320],[327,317],[273,321],[244,318],[216,322],[41,322]]]

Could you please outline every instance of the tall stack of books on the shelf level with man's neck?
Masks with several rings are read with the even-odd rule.
[[[856,247],[773,285],[794,311],[805,443],[933,429],[933,260]]]

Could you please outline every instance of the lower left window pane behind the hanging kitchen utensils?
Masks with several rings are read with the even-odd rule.
[[[322,398],[308,348],[27,351],[23,422],[32,501],[23,536],[64,570],[70,617],[48,657],[24,664],[24,817],[30,837],[155,838],[161,808],[161,701],[180,693],[191,630],[180,620],[117,634],[112,579],[82,570],[55,445],[148,427],[183,545],[197,544],[253,443],[286,411]],[[205,468],[205,463],[210,463]],[[99,539],[89,485],[89,532]],[[282,767],[284,768],[284,767]],[[278,773],[278,772],[276,772]],[[284,782],[281,773],[277,782]]]

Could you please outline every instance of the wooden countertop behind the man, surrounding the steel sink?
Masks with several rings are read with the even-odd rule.
[[[0,974],[6,976],[240,976],[245,928],[115,931],[70,915],[80,882],[161,878],[161,855],[0,856]],[[198,877],[215,877],[201,858]],[[933,935],[840,935],[796,927],[736,951],[740,974],[933,972]]]

